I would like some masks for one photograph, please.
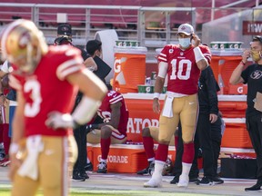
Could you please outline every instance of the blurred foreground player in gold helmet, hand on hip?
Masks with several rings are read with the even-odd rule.
[[[1,46],[14,67],[9,83],[17,92],[9,150],[12,195],[35,195],[38,187],[44,195],[67,195],[77,156],[72,130],[90,121],[106,85],[86,69],[78,49],[48,47],[32,21],[7,25]],[[78,89],[83,99],[70,114]]]

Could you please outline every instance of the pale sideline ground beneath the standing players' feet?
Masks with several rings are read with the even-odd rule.
[[[8,168],[0,167],[0,195],[1,190],[11,187],[11,183],[7,178]],[[247,179],[226,179],[224,184],[214,186],[198,186],[189,184],[187,189],[178,188],[169,181],[173,179],[171,176],[164,176],[163,187],[144,188],[143,183],[150,179],[150,176],[139,176],[136,174],[126,173],[107,173],[98,174],[96,172],[88,173],[89,179],[83,182],[72,181],[71,196],[73,195],[174,195],[177,196],[193,196],[193,195],[236,195],[236,196],[261,196],[261,191],[246,192],[246,187],[252,186],[256,180]]]

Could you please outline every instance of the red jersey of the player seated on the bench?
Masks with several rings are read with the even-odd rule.
[[[122,134],[126,135],[126,127],[128,122],[129,113],[126,109],[126,103],[124,97],[121,93],[115,91],[109,91],[106,94],[101,106],[99,107],[97,114],[104,119],[104,122],[108,122],[111,120],[111,107],[110,105],[115,103],[122,103],[120,108],[120,120],[118,127],[116,129],[121,132]]]

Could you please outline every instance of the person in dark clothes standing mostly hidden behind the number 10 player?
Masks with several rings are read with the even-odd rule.
[[[193,161],[191,171],[189,173],[189,181],[197,182],[198,185],[213,185],[214,181],[216,183],[223,183],[220,178],[217,176],[217,169],[215,171],[215,162],[217,159],[214,158],[214,149],[212,143],[212,129],[213,126],[215,141],[221,142],[221,118],[217,121],[218,116],[218,101],[217,101],[217,90],[219,91],[219,86],[215,79],[214,73],[210,66],[207,69],[201,72],[199,82],[198,82],[198,101],[199,101],[199,114],[196,126],[196,135],[195,135],[195,159]],[[219,129],[219,133],[215,131]],[[175,177],[170,183],[177,183],[179,180],[179,175],[181,174],[181,157],[183,153],[183,141],[181,135],[181,128],[178,128],[176,133],[179,138],[178,147],[176,150],[176,162],[174,166]],[[217,139],[216,139],[217,137]],[[220,148],[220,146],[219,146]],[[204,177],[201,181],[198,181],[198,168],[197,168],[197,157],[198,151],[201,149],[203,156],[203,165],[204,165]],[[216,149],[216,157],[217,157]],[[220,151],[220,149],[219,149]],[[219,155],[219,154],[218,154]]]

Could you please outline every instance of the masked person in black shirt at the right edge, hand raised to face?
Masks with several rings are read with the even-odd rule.
[[[247,58],[254,64],[245,69]],[[255,36],[250,49],[244,51],[242,61],[232,73],[229,83],[247,83],[246,125],[257,155],[257,183],[245,191],[260,191],[262,187],[262,36]]]

